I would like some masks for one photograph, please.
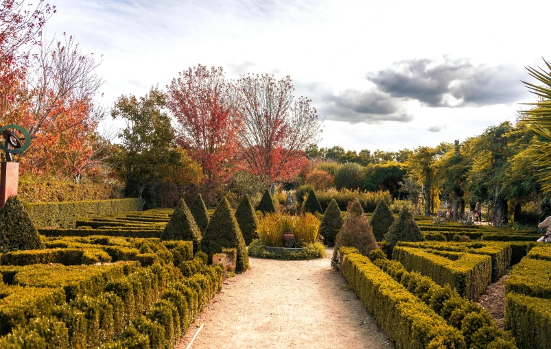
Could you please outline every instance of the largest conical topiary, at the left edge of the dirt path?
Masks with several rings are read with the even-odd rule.
[[[209,255],[209,261],[212,261],[213,254],[222,252],[222,248],[235,248],[235,272],[244,272],[249,268],[245,241],[226,197],[222,197],[214,210],[209,226],[204,232],[201,248]]]

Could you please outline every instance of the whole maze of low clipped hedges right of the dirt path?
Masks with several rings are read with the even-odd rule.
[[[382,241],[368,256],[342,247],[336,263],[397,348],[549,348],[551,246],[535,242],[541,234],[414,218],[425,241]],[[500,329],[476,300],[511,269]]]

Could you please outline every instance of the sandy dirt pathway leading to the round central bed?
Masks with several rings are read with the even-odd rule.
[[[250,258],[178,344],[191,348],[392,348],[330,256],[315,261]]]

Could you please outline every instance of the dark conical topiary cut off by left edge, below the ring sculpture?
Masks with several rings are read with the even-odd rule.
[[[25,206],[16,196],[0,208],[0,252],[44,248]]]

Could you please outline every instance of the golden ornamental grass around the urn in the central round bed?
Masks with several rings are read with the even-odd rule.
[[[283,215],[268,213],[259,220],[257,233],[267,246],[283,247],[283,233],[292,232],[297,248],[318,241],[320,220],[312,213],[304,215]]]

